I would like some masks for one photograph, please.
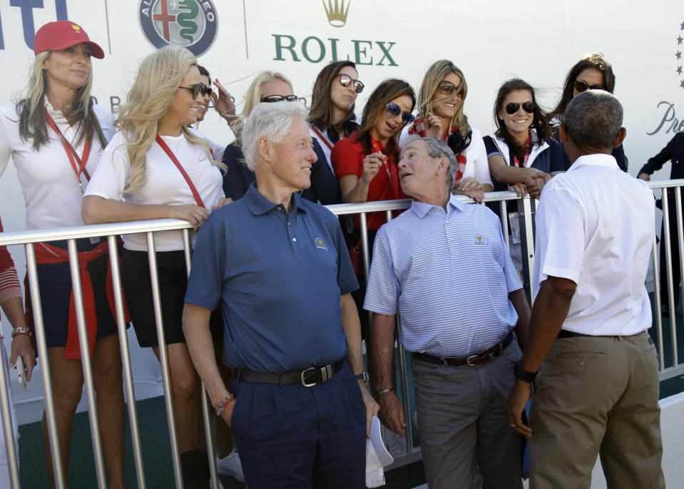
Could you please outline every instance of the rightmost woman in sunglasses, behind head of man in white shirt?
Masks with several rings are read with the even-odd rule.
[[[582,59],[575,63],[575,66],[570,68],[566,81],[563,83],[563,93],[558,105],[549,114],[551,118],[551,129],[553,130],[553,138],[561,142],[561,136],[558,134],[558,128],[563,122],[563,113],[565,113],[568,103],[578,94],[586,90],[605,90],[613,93],[615,90],[615,74],[613,74],[613,66],[606,61],[601,53],[587,53],[582,56]],[[563,148],[563,145],[561,145]],[[625,155],[625,148],[619,145],[613,148],[613,157],[618,162],[621,170],[627,171],[628,160]],[[563,164],[565,170],[570,168],[570,158],[563,150]]]

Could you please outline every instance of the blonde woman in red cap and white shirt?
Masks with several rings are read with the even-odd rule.
[[[0,108],[0,174],[11,157],[26,200],[26,227],[47,229],[83,225],[83,188],[113,132],[113,116],[93,104],[91,58],[102,48],[71,21],[50,22],[34,41],[36,58],[29,86],[18,103]],[[93,242],[95,241],[95,242]],[[108,480],[125,487],[121,355],[116,321],[106,287],[106,242],[78,240],[86,323],[97,409]],[[71,275],[66,242],[36,244],[42,316],[65,484],[71,451],[73,414],[83,390],[76,321],[70,321]],[[92,289],[89,285],[92,284]],[[30,304],[30,302],[29,302]],[[45,416],[43,436],[51,483],[52,458]]]

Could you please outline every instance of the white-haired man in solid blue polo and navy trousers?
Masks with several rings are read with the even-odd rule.
[[[183,331],[212,405],[233,428],[248,485],[363,488],[377,404],[339,221],[298,193],[316,161],[306,115],[299,102],[262,103],[245,121],[256,184],[198,235]],[[208,326],[218,304],[233,393]]]

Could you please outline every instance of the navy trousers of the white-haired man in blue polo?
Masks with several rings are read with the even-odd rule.
[[[346,362],[313,387],[234,380],[232,390],[233,436],[250,488],[365,487],[364,405]]]

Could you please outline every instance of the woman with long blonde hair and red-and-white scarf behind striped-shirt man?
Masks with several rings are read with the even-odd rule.
[[[419,117],[402,133],[399,143],[410,134],[443,139],[459,162],[452,192],[481,202],[484,192],[491,192],[494,186],[482,135],[463,113],[467,94],[466,78],[454,63],[446,59],[433,63],[418,92]]]

